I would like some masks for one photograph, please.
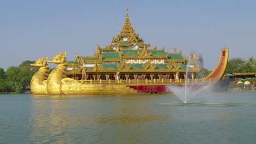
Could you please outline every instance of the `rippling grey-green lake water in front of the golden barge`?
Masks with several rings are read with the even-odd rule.
[[[0,95],[0,143],[255,143],[256,92]]]

